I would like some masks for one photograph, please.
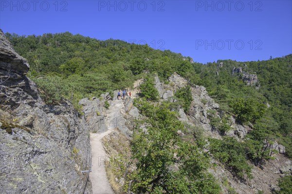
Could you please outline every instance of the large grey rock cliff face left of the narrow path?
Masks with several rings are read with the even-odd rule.
[[[0,31],[0,193],[83,193],[87,175],[80,171],[90,164],[85,119],[68,101],[46,105],[28,70]]]

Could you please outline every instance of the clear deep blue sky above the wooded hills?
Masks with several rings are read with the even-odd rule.
[[[136,41],[200,63],[257,61],[292,53],[292,0],[0,0],[0,28]]]

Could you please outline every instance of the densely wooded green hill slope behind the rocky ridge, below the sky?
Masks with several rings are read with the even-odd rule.
[[[166,82],[177,72],[189,84],[206,87],[222,111],[237,115],[238,122],[258,123],[261,117],[267,126],[264,133],[286,146],[286,154],[292,157],[292,54],[266,61],[218,60],[203,65],[170,50],[113,39],[99,41],[70,32],[5,35],[28,60],[28,75],[37,82],[47,103],[65,97],[78,109],[82,97],[130,88],[147,72],[156,72]],[[246,77],[246,72],[256,75],[257,81],[248,85],[253,77]],[[269,108],[260,113],[263,104]]]

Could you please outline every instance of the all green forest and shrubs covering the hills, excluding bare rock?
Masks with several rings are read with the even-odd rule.
[[[201,64],[170,50],[151,49],[148,45],[129,44],[121,40],[100,41],[70,32],[39,36],[5,35],[14,49],[28,60],[28,77],[37,83],[40,95],[47,104],[57,104],[66,98],[80,112],[78,102],[81,98],[99,96],[105,92],[112,94],[117,89],[132,88],[133,82],[140,78],[146,79],[141,85],[142,98],[135,104],[149,118],[148,123],[154,122],[155,110],[155,119],[160,119],[161,125],[148,129],[146,137],[139,135],[141,131],[138,131],[133,140],[132,149],[136,153],[133,157],[139,162],[137,172],[130,176],[140,180],[139,184],[133,183],[138,193],[219,193],[214,178],[201,173],[207,168],[209,156],[200,151],[205,145],[199,129],[188,129],[188,126],[177,121],[175,113],[170,111],[174,105],[163,103],[153,106],[151,103],[158,100],[158,93],[153,87],[154,74],[167,82],[168,77],[176,72],[188,81],[189,86],[204,86],[210,97],[219,104],[218,111],[225,115],[221,120],[210,118],[212,127],[221,134],[230,128],[225,119],[228,115],[235,116],[240,124],[253,126],[243,142],[224,136],[223,140],[208,139],[212,157],[234,172],[237,178],[252,178],[252,167],[247,161],[258,166],[264,160],[273,159],[273,150],[266,149],[267,142],[276,140],[285,146],[286,156],[292,159],[292,54],[274,59],[267,56],[265,61],[218,60]],[[247,85],[241,73],[232,74],[234,67],[256,74],[259,85]],[[189,86],[175,94],[177,105],[185,113],[188,113],[192,101]],[[173,128],[166,123],[171,123]],[[195,143],[176,136],[174,128],[186,134],[190,130],[197,131],[194,134]],[[157,136],[159,138],[155,142]],[[165,148],[157,147],[161,138],[164,138]],[[148,140],[153,141],[145,146]],[[171,145],[180,149],[172,150]],[[143,150],[150,155],[143,156]],[[181,154],[183,165],[180,171],[170,174],[165,169],[173,162],[171,155],[174,152]],[[153,157],[161,157],[162,163],[151,161]],[[152,165],[144,169],[147,164]],[[173,182],[171,177],[178,177],[177,182]],[[182,181],[186,177],[189,181]],[[203,181],[197,182],[198,179]],[[291,182],[289,177],[279,181],[283,194],[286,190],[291,191]],[[152,188],[149,188],[150,184]],[[171,187],[174,184],[180,185],[181,190]]]

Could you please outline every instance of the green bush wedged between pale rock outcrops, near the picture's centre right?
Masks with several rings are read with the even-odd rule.
[[[178,89],[174,96],[183,102],[183,110],[185,113],[188,113],[191,102],[193,101],[191,87],[186,86]]]

